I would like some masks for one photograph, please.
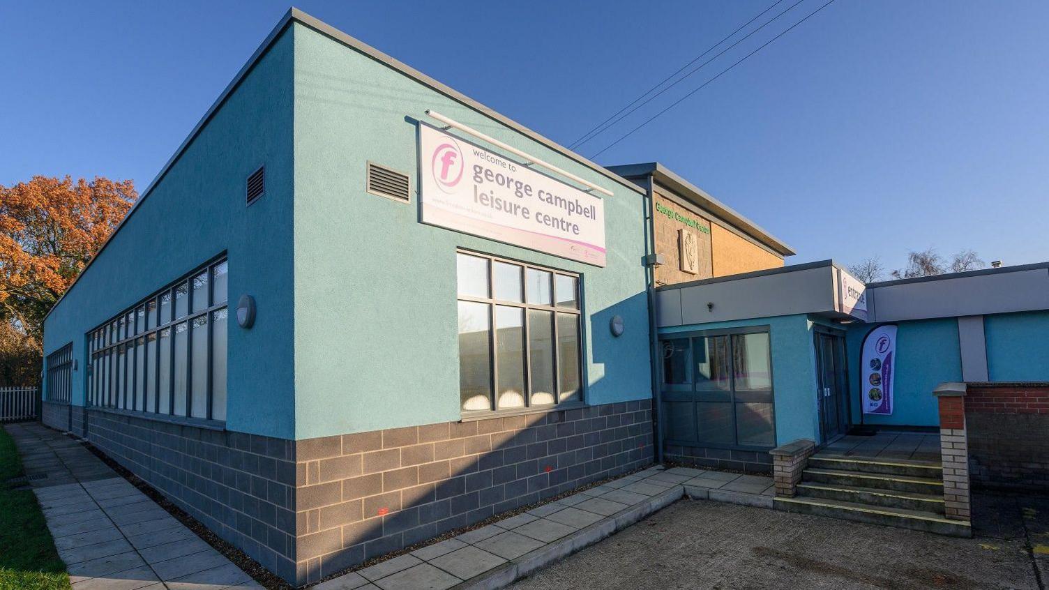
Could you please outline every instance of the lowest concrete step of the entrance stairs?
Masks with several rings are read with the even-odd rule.
[[[788,512],[817,514],[820,517],[830,517],[832,519],[843,519],[848,521],[885,525],[897,528],[909,528],[926,532],[935,532],[937,534],[948,534],[951,536],[972,536],[972,527],[969,526],[969,523],[962,521],[949,521],[943,518],[942,514],[937,514],[935,512],[864,506],[862,504],[842,502],[840,500],[799,497],[776,498],[774,506],[776,509],[786,510]]]

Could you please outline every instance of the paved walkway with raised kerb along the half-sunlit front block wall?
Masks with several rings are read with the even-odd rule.
[[[314,590],[501,588],[685,496],[772,506],[772,479],[650,467],[324,582]]]

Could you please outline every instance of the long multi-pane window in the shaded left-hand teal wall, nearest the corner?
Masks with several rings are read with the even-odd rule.
[[[226,420],[227,261],[88,334],[91,405]]]

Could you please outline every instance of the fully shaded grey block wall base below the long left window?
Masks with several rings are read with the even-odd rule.
[[[90,408],[87,439],[264,567],[295,580],[294,442]]]

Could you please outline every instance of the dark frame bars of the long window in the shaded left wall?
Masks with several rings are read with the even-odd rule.
[[[222,309],[228,309],[230,305],[229,301],[229,290],[227,290],[226,300],[221,302],[215,302],[215,276],[216,269],[221,265],[227,265],[226,273],[229,275],[229,258],[227,253],[223,252],[207,262],[194,267],[192,271],[184,273],[179,278],[167,283],[165,287],[152,292],[148,297],[142,298],[135,301],[134,304],[124,309],[121,313],[113,315],[111,318],[100,323],[99,325],[88,330],[84,335],[87,342],[87,359],[88,359],[88,379],[85,396],[85,405],[87,407],[100,408],[107,412],[127,412],[132,413],[136,416],[157,419],[164,421],[172,422],[192,422],[192,423],[224,423],[224,420],[215,420],[213,418],[214,414],[214,384],[212,383],[212,368],[214,364],[214,350],[213,350],[213,313],[220,311]],[[204,308],[194,311],[194,289],[193,279],[199,276],[201,273],[207,273],[208,286],[204,295],[208,298],[208,304]],[[229,280],[229,278],[227,278]],[[178,313],[177,305],[175,303],[175,290],[186,287],[186,315],[180,317],[174,317]],[[228,289],[228,288],[227,288]],[[170,296],[170,304],[168,305],[168,317],[162,318],[160,312],[164,307],[160,304],[160,297],[168,295]],[[150,304],[153,303],[152,310],[150,310]],[[138,315],[138,310],[143,310],[143,315]],[[150,315],[153,317],[150,318]],[[131,317],[130,326],[127,325],[127,318]],[[207,318],[207,330],[199,337],[207,340],[207,367],[205,370],[205,379],[207,381],[207,393],[205,396],[205,403],[207,405],[207,412],[204,417],[194,417],[193,414],[193,392],[192,392],[192,380],[193,380],[193,358],[192,358],[192,346],[193,346],[193,320],[205,317]],[[123,322],[121,320],[124,320]],[[186,323],[186,414],[176,415],[174,413],[175,407],[175,354],[176,346],[174,345],[175,328],[178,324]],[[122,324],[124,325],[123,332],[121,331]],[[113,334],[113,326],[116,326],[116,334]],[[149,328],[147,328],[149,326]],[[168,404],[167,413],[162,413],[159,407],[160,400],[160,333],[165,330],[169,332],[169,338],[171,339],[170,345],[168,346]],[[150,351],[149,337],[155,334],[154,342],[152,346],[153,351]],[[142,351],[144,355],[143,360],[145,376],[138,376],[138,347],[136,346],[137,341],[143,340]],[[124,350],[125,362],[123,366],[119,363],[119,354],[121,350]],[[152,354],[150,354],[152,353]],[[229,347],[227,347],[227,362],[229,362]],[[153,372],[152,383],[147,383],[147,378],[150,373],[150,368]],[[116,371],[124,372],[124,378],[116,380],[114,379],[114,373]],[[146,386],[146,392],[152,389],[152,400],[146,398],[146,392],[140,393],[137,391],[138,385],[143,384]],[[138,401],[142,401],[142,407],[138,407]],[[147,409],[150,406],[150,401],[152,401],[153,409]],[[227,403],[229,403],[229,387],[227,387]]]

